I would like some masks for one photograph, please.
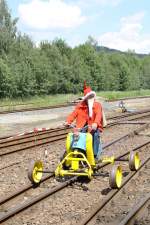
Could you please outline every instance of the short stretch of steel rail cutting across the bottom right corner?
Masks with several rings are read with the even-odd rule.
[[[146,207],[149,200],[150,193],[148,193],[138,204],[134,205],[127,216],[118,225],[134,225],[136,217],[141,214],[141,211]]]

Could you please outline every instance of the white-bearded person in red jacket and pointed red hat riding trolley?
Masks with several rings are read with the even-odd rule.
[[[65,126],[69,126],[76,120],[77,128],[84,128],[89,125],[88,131],[93,136],[94,157],[99,160],[102,151],[100,135],[103,131],[102,105],[95,101],[96,93],[84,83],[84,97],[81,103],[77,104],[75,110],[67,117]]]

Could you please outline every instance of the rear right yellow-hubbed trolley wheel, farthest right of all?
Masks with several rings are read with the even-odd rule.
[[[129,155],[130,170],[136,171],[136,170],[138,170],[139,166],[140,166],[140,158],[139,158],[138,152],[131,151],[130,155]]]

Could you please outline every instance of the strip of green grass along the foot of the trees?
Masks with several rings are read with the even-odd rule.
[[[107,100],[120,99],[125,97],[137,97],[137,96],[150,96],[150,90],[138,90],[138,91],[106,91],[97,92],[97,96],[104,97]],[[72,100],[77,99],[79,96],[83,96],[82,93],[78,95],[73,94],[59,94],[50,96],[35,96],[24,99],[1,99],[0,111],[1,110],[13,110],[23,109],[31,107],[44,107],[54,106],[59,104],[68,103]]]

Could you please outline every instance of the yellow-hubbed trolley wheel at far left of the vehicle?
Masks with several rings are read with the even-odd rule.
[[[43,163],[41,161],[32,160],[28,169],[28,178],[32,183],[38,184],[43,174]]]

